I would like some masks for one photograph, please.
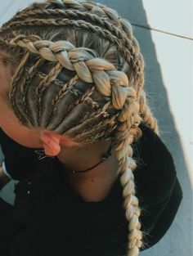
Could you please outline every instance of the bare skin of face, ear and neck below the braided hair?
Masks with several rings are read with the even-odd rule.
[[[0,127],[14,141],[30,148],[43,148],[46,155],[56,156],[65,168],[84,170],[101,160],[109,141],[83,145],[56,132],[41,128],[27,128],[20,124],[11,107],[7,105],[5,92],[11,82],[11,67],[0,62]],[[104,200],[118,176],[118,160],[112,155],[87,173],[69,174],[70,185],[85,201]],[[1,177],[0,177],[1,178]],[[100,190],[99,190],[100,187]]]

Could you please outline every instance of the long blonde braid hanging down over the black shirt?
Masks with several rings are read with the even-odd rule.
[[[133,89],[132,89],[133,90]],[[135,92],[133,90],[133,92]],[[137,168],[135,160],[132,159],[132,144],[133,138],[137,136],[138,125],[141,122],[141,118],[138,115],[139,104],[137,104],[137,93],[131,93],[128,95],[130,99],[129,107],[123,108],[121,115],[118,119],[122,124],[119,125],[118,132],[115,134],[117,141],[114,150],[119,160],[119,173],[121,173],[121,184],[123,186],[123,208],[126,211],[126,218],[128,219],[128,255],[137,256],[139,254],[139,248],[142,246],[142,232],[140,231],[141,223],[139,216],[141,209],[139,208],[139,202],[135,196],[136,189],[134,183],[134,176],[132,171]],[[138,105],[138,110],[137,110]],[[125,112],[125,113],[124,113]],[[128,113],[127,113],[128,112]]]

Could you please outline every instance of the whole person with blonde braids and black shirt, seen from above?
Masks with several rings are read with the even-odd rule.
[[[2,170],[20,181],[13,209],[2,202],[3,254],[155,245],[182,191],[128,20],[95,2],[36,2],[2,25],[0,52]]]

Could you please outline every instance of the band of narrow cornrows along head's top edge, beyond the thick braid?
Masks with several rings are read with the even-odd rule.
[[[48,2],[50,2],[50,4]],[[61,8],[67,7],[71,9],[44,9],[52,6]],[[132,36],[132,26],[125,19],[119,17],[116,11],[109,7],[105,7],[105,5],[101,5],[98,3],[96,4],[95,2],[77,2],[68,0],[60,2],[47,1],[46,3],[36,3],[34,4],[34,7],[38,9],[34,9],[32,11],[30,10],[30,8],[27,8],[22,15],[20,14],[20,12],[18,12],[15,18],[11,19],[10,22],[7,22],[5,24],[4,29],[2,27],[2,32],[7,31],[7,29],[18,29],[20,26],[32,25],[73,25],[78,28],[92,30],[94,33],[101,34],[103,38],[107,38],[108,40],[110,40],[110,42],[117,45],[119,47],[120,52],[122,52],[123,56],[127,59],[127,61],[131,62],[131,65],[135,70],[135,74],[137,75],[137,79],[142,80],[143,58],[139,51],[139,45],[137,43],[137,40]],[[86,11],[96,11],[97,15],[93,13],[88,13]],[[35,17],[37,15],[38,19]],[[52,15],[55,16],[55,19],[39,19],[39,15]],[[70,19],[71,17],[79,18],[78,15],[84,18],[84,20]],[[62,19],[59,19],[59,16],[62,16]],[[65,16],[67,16],[67,19],[64,19]],[[106,16],[108,17],[108,20],[110,20],[111,22],[106,20]],[[22,18],[25,18],[25,21],[20,20]],[[101,25],[101,27],[86,22],[86,19],[88,19],[92,23]],[[119,25],[119,28],[116,28],[116,26],[114,26],[114,23],[116,25]],[[104,29],[104,27],[106,29]],[[140,89],[141,87],[142,81],[141,85],[139,85]],[[139,93],[140,92],[137,92],[137,94]]]

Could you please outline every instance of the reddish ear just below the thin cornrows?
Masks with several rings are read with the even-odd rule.
[[[61,151],[60,137],[50,132],[42,132],[40,135],[46,155],[58,155]]]

